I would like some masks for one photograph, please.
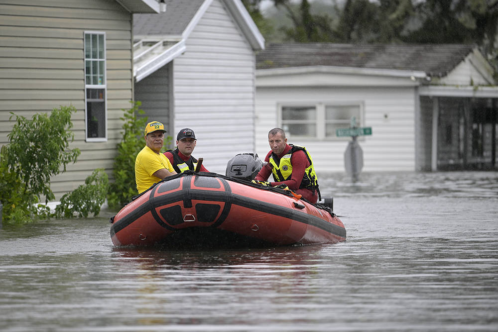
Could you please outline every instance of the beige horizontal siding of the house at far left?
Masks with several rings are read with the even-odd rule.
[[[132,100],[131,13],[114,0],[0,0],[0,144],[14,122],[37,112],[74,106],[71,148],[76,164],[52,179],[56,199],[92,171],[112,173],[123,114]],[[108,140],[85,141],[84,31],[106,33]]]

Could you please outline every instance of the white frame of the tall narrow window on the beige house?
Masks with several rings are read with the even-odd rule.
[[[86,73],[86,61],[87,60],[92,60],[91,58],[88,59],[86,58],[86,42],[85,42],[85,36],[87,34],[92,34],[92,35],[103,35],[104,36],[104,58],[99,58],[99,60],[104,61],[104,82],[102,84],[87,84],[87,73]],[[107,133],[107,128],[108,128],[108,116],[107,116],[107,47],[106,47],[106,32],[103,31],[83,31],[83,66],[84,66],[84,82],[85,82],[85,141],[87,142],[107,142],[108,139],[108,133]],[[99,90],[104,90],[104,119],[106,121],[105,123],[105,136],[104,137],[89,137],[89,132],[88,132],[88,102],[91,102],[92,100],[89,100],[87,98],[88,96],[88,90],[89,89],[99,89]]]

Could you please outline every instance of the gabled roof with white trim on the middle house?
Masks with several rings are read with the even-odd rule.
[[[253,50],[264,48],[264,38],[241,0],[222,1],[239,24]],[[213,0],[165,0],[160,14],[133,15],[133,71],[136,82],[182,54],[185,41]]]

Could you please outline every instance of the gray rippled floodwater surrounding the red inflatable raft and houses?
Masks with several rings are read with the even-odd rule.
[[[321,176],[347,241],[113,247],[109,213],[0,230],[1,331],[498,331],[498,172]]]

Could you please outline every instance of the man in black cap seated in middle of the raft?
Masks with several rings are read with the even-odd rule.
[[[176,149],[164,152],[166,158],[169,159],[173,165],[176,173],[180,174],[186,170],[195,170],[197,166],[197,159],[192,157],[197,139],[195,138],[194,130],[190,128],[183,128],[176,135]],[[200,172],[209,172],[204,165],[201,164]]]

